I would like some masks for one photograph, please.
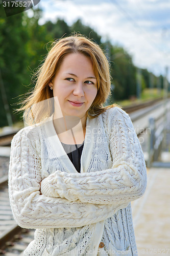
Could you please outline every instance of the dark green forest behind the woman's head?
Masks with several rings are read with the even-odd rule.
[[[109,104],[137,97],[138,76],[140,76],[141,91],[145,88],[157,87],[158,81],[162,88],[162,76],[156,77],[147,69],[140,69],[138,72],[132,56],[125,49],[112,45],[109,40],[103,42],[101,35],[83,25],[80,19],[71,26],[68,26],[63,19],[57,19],[55,23],[49,20],[39,25],[42,10],[38,8],[32,10],[33,17],[29,17],[27,12],[6,17],[0,5],[0,127],[8,125],[7,113],[12,116],[12,122],[21,120],[22,113],[14,114],[14,109],[19,108],[19,102],[24,99],[25,93],[31,92],[35,86],[33,74],[43,63],[51,42],[72,33],[86,35],[104,50],[110,63],[112,78],[112,95]]]

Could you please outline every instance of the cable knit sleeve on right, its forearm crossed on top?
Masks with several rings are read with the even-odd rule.
[[[57,170],[42,181],[43,194],[115,207],[143,195],[147,185],[146,166],[131,119],[119,108],[107,119],[112,168],[81,174]]]

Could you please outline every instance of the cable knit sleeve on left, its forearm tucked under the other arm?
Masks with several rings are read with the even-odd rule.
[[[103,221],[114,214],[116,209],[110,205],[104,207],[80,200],[75,203],[41,195],[41,161],[37,144],[21,131],[11,142],[9,197],[14,219],[19,226],[81,227]]]

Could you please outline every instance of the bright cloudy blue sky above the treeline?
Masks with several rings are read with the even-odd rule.
[[[38,5],[40,24],[63,18],[72,25],[80,18],[103,41],[124,47],[137,67],[155,75],[167,71],[170,81],[169,0],[41,0]]]

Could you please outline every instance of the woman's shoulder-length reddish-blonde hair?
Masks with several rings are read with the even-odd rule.
[[[48,84],[60,68],[63,58],[69,53],[82,53],[88,56],[92,61],[93,71],[98,81],[98,93],[87,112],[87,116],[95,118],[106,109],[117,106],[117,104],[104,106],[106,99],[111,94],[111,79],[109,63],[102,49],[85,36],[73,35],[52,43],[44,63],[34,75],[37,77],[37,81],[33,92],[29,92],[31,95],[23,100],[21,108],[16,110],[25,111],[23,119],[28,125],[39,123],[53,114],[53,91],[50,90]]]

